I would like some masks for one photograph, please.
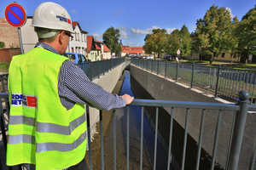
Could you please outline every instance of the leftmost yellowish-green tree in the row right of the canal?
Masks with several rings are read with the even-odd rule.
[[[154,29],[153,34],[147,34],[144,39],[145,44],[143,49],[145,49],[148,54],[161,54],[165,53],[166,48],[166,30],[165,29]]]

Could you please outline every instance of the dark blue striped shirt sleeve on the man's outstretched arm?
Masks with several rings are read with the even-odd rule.
[[[126,99],[120,98],[117,94],[110,94],[101,86],[91,82],[79,65],[70,60],[64,61],[61,67],[63,65],[66,67],[63,74],[63,97],[106,111],[126,105]]]

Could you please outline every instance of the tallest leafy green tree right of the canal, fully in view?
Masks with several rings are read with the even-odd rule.
[[[196,44],[201,48],[200,53],[211,55],[210,64],[214,56],[230,50],[231,16],[224,7],[212,5],[203,19],[196,20]]]

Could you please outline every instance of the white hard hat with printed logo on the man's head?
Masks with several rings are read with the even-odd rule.
[[[57,3],[41,3],[34,11],[32,26],[74,33],[67,10]]]

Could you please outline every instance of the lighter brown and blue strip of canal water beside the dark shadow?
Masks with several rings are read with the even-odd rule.
[[[130,94],[131,92],[130,73],[125,73],[120,89],[120,95]],[[119,86],[119,85],[118,85]],[[126,146],[127,146],[127,107],[116,110],[116,150],[117,150],[117,169],[126,169]],[[103,132],[104,132],[104,167],[113,169],[113,122],[112,111],[103,111]],[[130,106],[130,135],[129,135],[129,168],[140,169],[140,150],[141,150],[141,108],[140,106]],[[97,132],[99,126],[97,125]],[[95,135],[91,144],[93,169],[102,169],[100,136]],[[86,161],[88,161],[88,153]],[[143,169],[154,169],[154,132],[145,116],[143,116]],[[167,169],[167,158],[160,144],[157,144],[156,169]]]

